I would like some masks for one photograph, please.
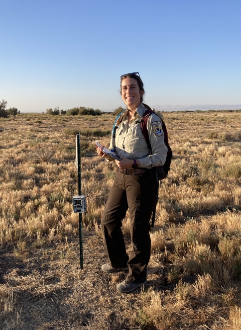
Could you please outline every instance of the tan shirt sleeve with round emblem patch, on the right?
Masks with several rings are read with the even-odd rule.
[[[155,166],[161,166],[165,163],[167,157],[167,146],[164,143],[164,132],[161,119],[152,114],[147,121],[147,130],[152,147],[152,154],[138,159],[140,167],[151,169]]]

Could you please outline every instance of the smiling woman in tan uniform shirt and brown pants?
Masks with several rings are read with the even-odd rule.
[[[156,114],[148,118],[147,129],[151,150],[141,130],[141,119],[147,110],[143,105],[144,85],[138,72],[121,76],[121,96],[127,110],[117,121],[114,148],[121,160],[113,159],[97,148],[98,155],[115,161],[117,170],[102,219],[101,228],[109,263],[102,271],[129,271],[117,289],[124,293],[147,284],[147,265],[151,255],[150,218],[158,200],[157,166],[165,163],[167,147],[162,123]],[[129,208],[133,250],[127,255],[121,230],[122,220]]]

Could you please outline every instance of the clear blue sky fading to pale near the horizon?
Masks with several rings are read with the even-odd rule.
[[[0,0],[0,100],[21,112],[241,104],[240,0]]]

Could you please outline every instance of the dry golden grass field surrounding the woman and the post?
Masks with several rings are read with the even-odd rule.
[[[114,117],[0,118],[0,328],[241,329],[241,113],[164,113],[173,149],[160,184],[149,284],[103,274],[99,227],[114,164]],[[79,269],[75,134],[81,132],[84,270]],[[123,221],[131,249],[129,217]]]

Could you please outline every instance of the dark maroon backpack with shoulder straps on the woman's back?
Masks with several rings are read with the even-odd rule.
[[[145,113],[143,114],[143,117],[141,119],[141,129],[142,129],[142,133],[145,137],[145,140],[147,142],[148,148],[152,152],[152,147],[151,147],[149,134],[148,134],[148,130],[147,130],[147,121],[148,121],[148,118],[149,118],[150,114],[154,113],[157,116],[158,116],[158,114],[155,111],[153,111],[148,105],[146,105],[144,103],[143,103],[143,105],[148,110],[145,111]],[[115,123],[117,122],[117,125],[119,125],[122,122],[122,117],[121,116],[122,116],[123,113],[124,113],[124,111],[121,112],[115,119],[113,129],[112,129],[113,139],[115,138],[115,130],[116,130]],[[171,161],[172,161],[172,149],[170,148],[169,143],[168,143],[168,134],[167,134],[166,125],[165,125],[162,118],[160,118],[160,120],[162,121],[162,130],[163,130],[163,133],[164,133],[164,143],[167,146],[167,157],[166,157],[165,163],[162,166],[157,167],[157,178],[158,178],[158,180],[163,180],[168,176],[168,172],[170,171],[170,165],[171,165]]]

